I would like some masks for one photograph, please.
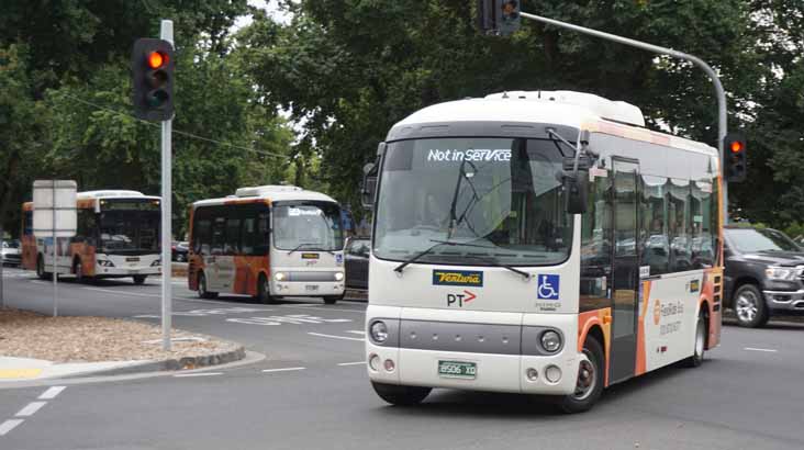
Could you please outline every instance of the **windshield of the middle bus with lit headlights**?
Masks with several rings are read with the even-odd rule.
[[[275,205],[273,246],[288,251],[343,250],[340,207],[325,202]]]

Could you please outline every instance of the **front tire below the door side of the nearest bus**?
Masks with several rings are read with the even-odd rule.
[[[583,342],[583,355],[587,357],[578,367],[576,392],[565,395],[558,407],[567,414],[583,413],[594,406],[603,393],[604,359],[603,346],[598,339],[589,336]]]

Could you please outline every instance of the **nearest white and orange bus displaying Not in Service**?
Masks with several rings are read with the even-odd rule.
[[[368,374],[392,404],[433,387],[556,396],[719,341],[717,150],[638,108],[570,91],[436,104],[367,165]]]

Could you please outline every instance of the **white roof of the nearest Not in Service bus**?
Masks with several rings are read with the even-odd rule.
[[[499,124],[513,127],[528,123],[555,124],[717,155],[708,145],[645,128],[643,113],[633,104],[573,91],[511,91],[434,104],[397,123],[387,140],[405,138],[414,128],[431,128],[428,135],[436,136],[432,128],[461,122],[493,123],[498,127]]]

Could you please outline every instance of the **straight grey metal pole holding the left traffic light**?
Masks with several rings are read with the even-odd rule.
[[[163,20],[159,37],[174,43],[174,22]],[[171,229],[171,142],[172,120],[161,122],[161,348],[170,351],[172,315],[172,261],[170,257]]]

